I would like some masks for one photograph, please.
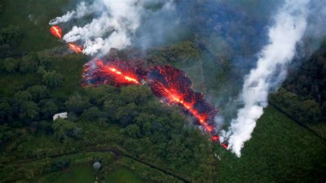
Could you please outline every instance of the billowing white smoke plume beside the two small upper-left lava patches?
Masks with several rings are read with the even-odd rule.
[[[76,10],[53,19],[50,24],[65,23],[74,18],[80,19],[94,14],[91,22],[83,26],[75,25],[63,36],[63,40],[83,43],[84,54],[106,54],[112,47],[123,49],[131,45],[135,32],[140,28],[144,12],[149,13],[144,9],[147,3],[140,0],[96,0],[87,7],[87,3],[81,2]],[[164,2],[161,10],[166,13],[173,11],[172,1]]]

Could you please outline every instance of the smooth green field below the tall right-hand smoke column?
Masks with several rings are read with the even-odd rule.
[[[325,152],[325,141],[268,107],[241,158],[218,150],[219,182],[314,182],[325,173]]]

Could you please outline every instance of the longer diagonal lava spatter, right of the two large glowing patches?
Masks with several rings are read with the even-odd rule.
[[[146,76],[155,96],[162,98],[166,103],[180,105],[185,111],[195,116],[199,125],[205,131],[216,133],[213,119],[216,109],[204,100],[204,96],[191,89],[191,80],[180,69],[171,65],[153,66]]]

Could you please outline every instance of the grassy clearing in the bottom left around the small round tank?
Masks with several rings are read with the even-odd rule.
[[[69,160],[70,166],[64,171],[54,172],[53,162],[63,158]],[[36,180],[40,180],[40,182],[54,182],[54,180],[56,182],[80,182],[79,180],[87,180],[87,182],[94,182],[92,163],[100,159],[104,163],[110,164],[113,162],[113,155],[109,152],[76,153],[56,158],[42,158],[32,162],[7,164],[0,167],[0,180],[4,182],[16,180],[28,180],[28,182]]]

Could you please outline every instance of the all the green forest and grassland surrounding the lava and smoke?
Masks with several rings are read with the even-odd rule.
[[[325,182],[326,42],[290,65],[237,158],[146,84],[81,87],[91,58],[65,52],[49,33],[48,21],[67,2],[0,0],[0,182]],[[30,12],[41,14],[37,23],[28,21]],[[190,35],[145,54],[111,49],[108,57],[193,65],[185,68],[191,78],[198,65],[213,65],[201,63],[205,58],[218,59],[219,69],[208,73],[213,79],[193,83],[200,92],[222,94],[244,71],[211,47]],[[52,119],[65,111],[68,118]]]

